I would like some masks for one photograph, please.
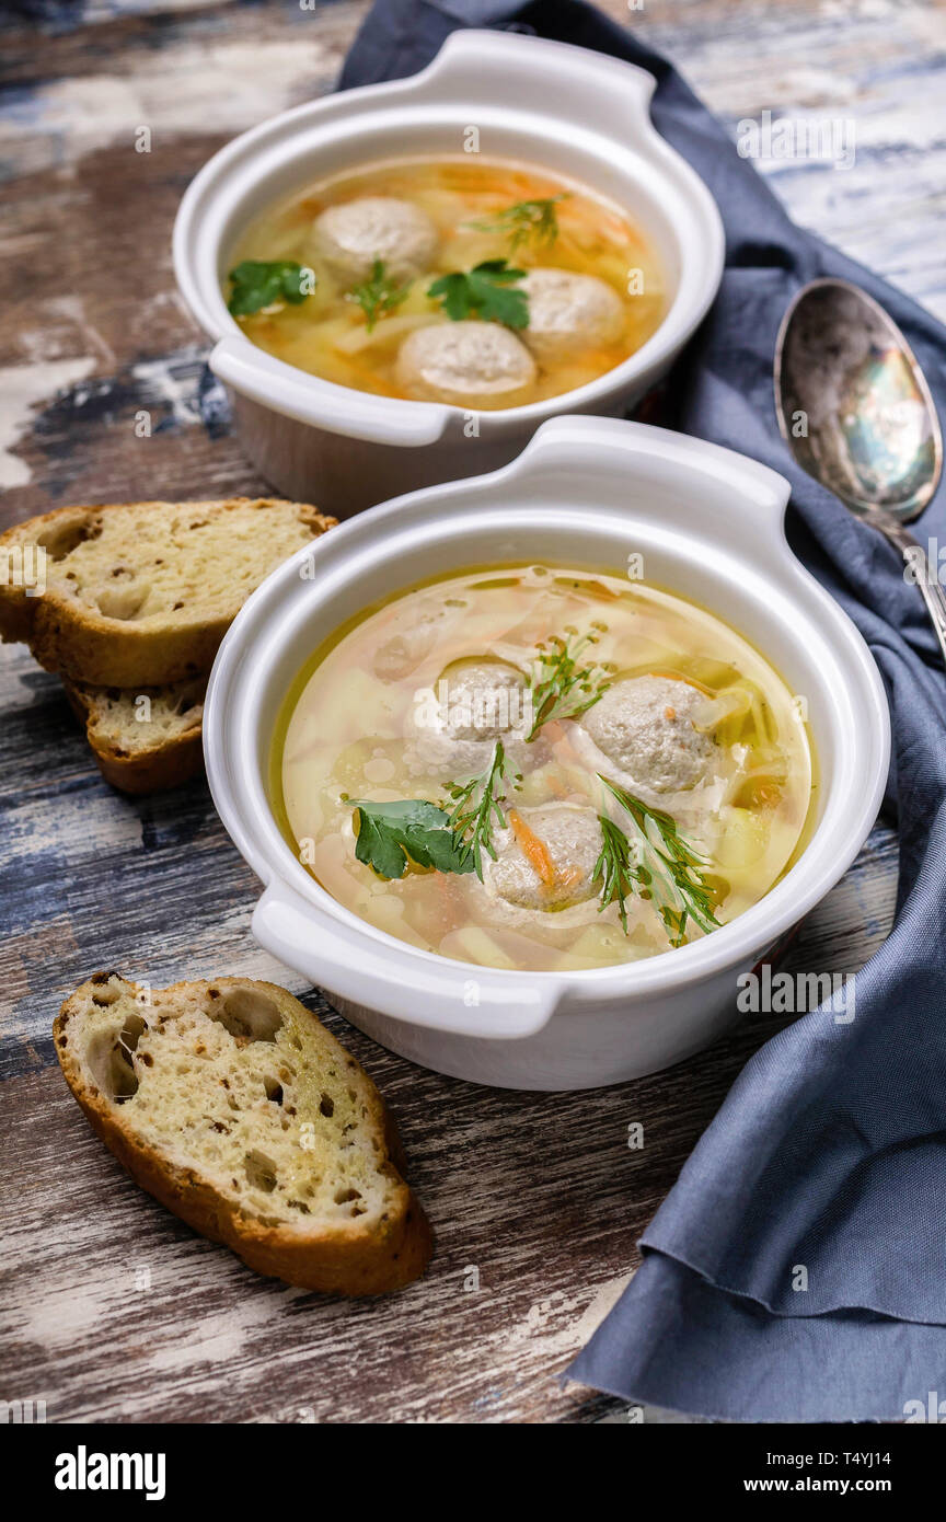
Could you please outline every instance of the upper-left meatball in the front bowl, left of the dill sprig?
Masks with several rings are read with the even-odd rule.
[[[412,758],[426,770],[462,779],[484,772],[502,740],[513,764],[528,731],[525,677],[505,661],[456,661],[433,703],[418,702],[408,720]]]

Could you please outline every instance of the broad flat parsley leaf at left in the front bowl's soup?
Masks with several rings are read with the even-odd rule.
[[[450,814],[436,804],[409,798],[377,804],[371,798],[344,798],[357,810],[354,855],[379,877],[398,878],[414,861],[438,872],[471,872],[468,846],[452,826]]]

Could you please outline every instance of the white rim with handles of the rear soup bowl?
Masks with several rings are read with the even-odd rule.
[[[357,135],[386,108],[395,113],[429,111],[424,99],[429,91],[438,90],[441,75],[449,70],[467,68],[487,90],[488,72],[476,70],[484,56],[490,62],[499,59],[523,70],[529,70],[537,61],[540,68],[561,67],[564,61],[587,90],[593,90],[599,81],[607,82],[611,90],[616,81],[621,84],[627,94],[625,125],[631,125],[633,137],[613,131],[608,140],[598,126],[589,128],[586,135],[598,149],[598,158],[611,163],[614,154],[619,154],[622,163],[637,166],[639,180],[646,178],[649,172],[659,172],[672,192],[668,201],[662,202],[660,213],[672,231],[680,271],[674,297],[654,333],[613,370],[581,387],[543,400],[479,412],[458,403],[362,393],[310,374],[260,350],[227,310],[217,279],[225,215],[230,215],[249,189],[259,184],[260,160],[278,152],[281,160],[289,163],[307,152],[301,146],[309,140],[307,134],[325,128],[332,131],[341,128],[341,135],[347,137]],[[456,425],[471,412],[481,419],[481,428],[485,426],[491,432],[513,431],[534,426],[563,411],[607,403],[610,397],[630,391],[642,380],[646,382],[659,367],[678,353],[706,317],[719,289],[725,260],[722,219],[709,187],[683,155],[657,132],[651,120],[648,108],[654,88],[656,79],[646,70],[589,49],[513,32],[468,29],[450,33],[430,64],[415,75],[321,96],[239,134],[198,170],[184,192],[173,228],[173,268],[178,288],[201,329],[216,344],[210,356],[211,370],[234,390],[298,422],[329,426],[333,432],[348,432],[351,437],[371,437],[370,420],[374,419],[385,443],[402,441],[397,437],[398,428],[408,428],[412,437],[403,441],[415,444],[435,441],[450,425]],[[490,108],[500,110],[510,123],[531,123],[534,132],[535,123],[544,122],[549,129],[541,135],[549,142],[555,140],[551,128],[558,119],[551,114],[543,116],[537,111],[523,114],[517,107],[496,100]],[[446,111],[446,107],[441,110]],[[566,174],[564,178],[579,177]],[[213,254],[204,247],[202,233],[208,222],[211,225],[216,222]],[[348,425],[338,416],[342,406],[348,406],[353,412]],[[319,408],[330,411],[329,422],[315,416]],[[420,429],[421,419],[426,419],[426,431]]]

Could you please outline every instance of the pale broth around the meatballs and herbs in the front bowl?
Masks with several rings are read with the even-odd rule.
[[[338,903],[411,945],[488,966],[596,968],[669,948],[666,927],[642,896],[627,900],[625,931],[617,906],[602,909],[598,896],[564,912],[511,907],[473,874],[411,868],[388,881],[354,855],[354,816],[344,798],[444,801],[443,769],[424,772],[411,738],[418,696],[438,689],[444,668],[476,658],[525,673],[538,641],[592,624],[601,627],[595,659],[611,664],[616,680],[672,676],[700,688],[716,714],[706,785],[668,793],[660,807],[706,858],[719,924],[779,881],[802,848],[814,787],[808,731],[782,677],[741,635],[674,594],[534,565],[479,569],[400,594],[342,629],[300,671],[274,738],[275,811]],[[508,802],[526,811],[549,804],[599,811],[602,790],[583,744],[570,720],[540,729]],[[690,924],[687,939],[701,935]]]

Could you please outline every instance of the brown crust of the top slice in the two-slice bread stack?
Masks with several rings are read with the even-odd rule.
[[[68,545],[70,536],[82,536],[93,525],[99,531],[103,514],[148,513],[167,514],[186,507],[214,513],[227,508],[292,508],[297,521],[312,539],[336,522],[315,507],[284,502],[278,498],[230,498],[221,502],[114,502],[106,505],[61,507],[17,524],[0,534],[0,565],[11,551],[24,545]],[[94,536],[93,536],[94,537]],[[134,533],[128,551],[134,556]],[[65,557],[64,549],[61,557]],[[55,559],[55,557],[53,557]],[[78,601],[59,586],[50,584],[41,595],[27,595],[26,587],[11,580],[0,581],[0,639],[30,645],[35,659],[47,671],[58,671],[96,686],[163,686],[210,671],[214,656],[230,627],[239,603],[225,615],[201,618],[183,609],[179,618],[166,615],[160,621],[135,624],[131,618],[111,618],[88,603]]]

